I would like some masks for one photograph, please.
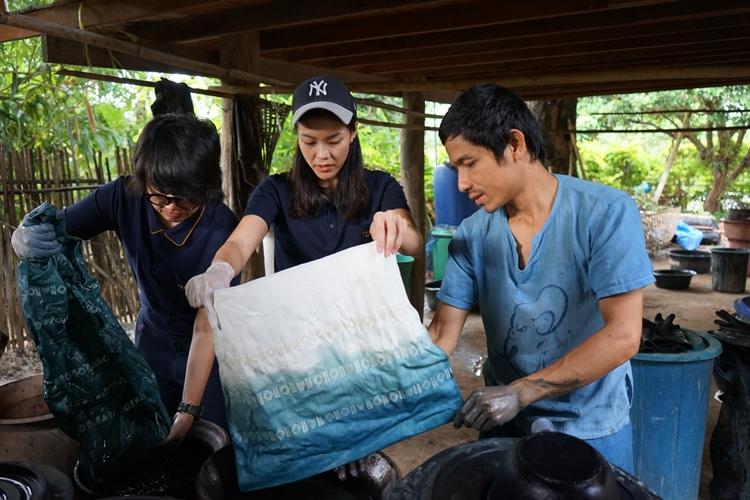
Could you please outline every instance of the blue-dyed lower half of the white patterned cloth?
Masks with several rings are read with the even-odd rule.
[[[225,381],[243,491],[362,458],[448,422],[461,407],[448,359],[426,332],[392,350],[359,354],[317,352],[319,362],[305,372]]]

